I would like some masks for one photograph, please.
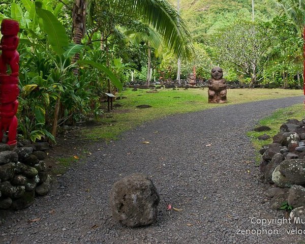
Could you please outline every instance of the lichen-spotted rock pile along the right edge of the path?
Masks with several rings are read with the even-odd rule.
[[[305,119],[289,119],[260,149],[259,179],[275,184],[267,190],[272,209],[293,207],[293,217],[305,217]],[[305,219],[304,219],[305,220]]]

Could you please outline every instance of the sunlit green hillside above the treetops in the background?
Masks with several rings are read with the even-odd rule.
[[[171,0],[176,6],[177,1]],[[180,0],[180,12],[196,41],[204,41],[205,34],[225,27],[236,19],[252,18],[251,0]],[[273,0],[255,0],[255,18],[268,20],[276,15]]]

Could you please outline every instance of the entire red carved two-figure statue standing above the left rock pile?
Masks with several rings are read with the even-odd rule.
[[[0,42],[0,142],[4,133],[8,134],[7,144],[14,148],[17,144],[17,109],[19,95],[19,53],[17,46],[19,23],[15,20],[4,19],[1,23],[3,35]],[[8,74],[8,67],[11,73]]]

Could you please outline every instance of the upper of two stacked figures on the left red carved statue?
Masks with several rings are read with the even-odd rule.
[[[18,38],[19,23],[15,20],[4,19],[1,23],[1,34],[3,35],[0,42],[0,73],[7,73],[7,65],[11,68],[11,75],[18,76],[19,73],[19,53],[17,46],[19,43]]]

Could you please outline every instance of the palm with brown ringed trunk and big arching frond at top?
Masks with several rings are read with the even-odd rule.
[[[79,43],[85,30],[86,5],[89,0],[75,0],[73,41]],[[116,9],[129,13],[159,33],[164,43],[179,58],[191,58],[192,40],[185,22],[167,0],[113,0]],[[76,61],[79,57],[76,56]]]

